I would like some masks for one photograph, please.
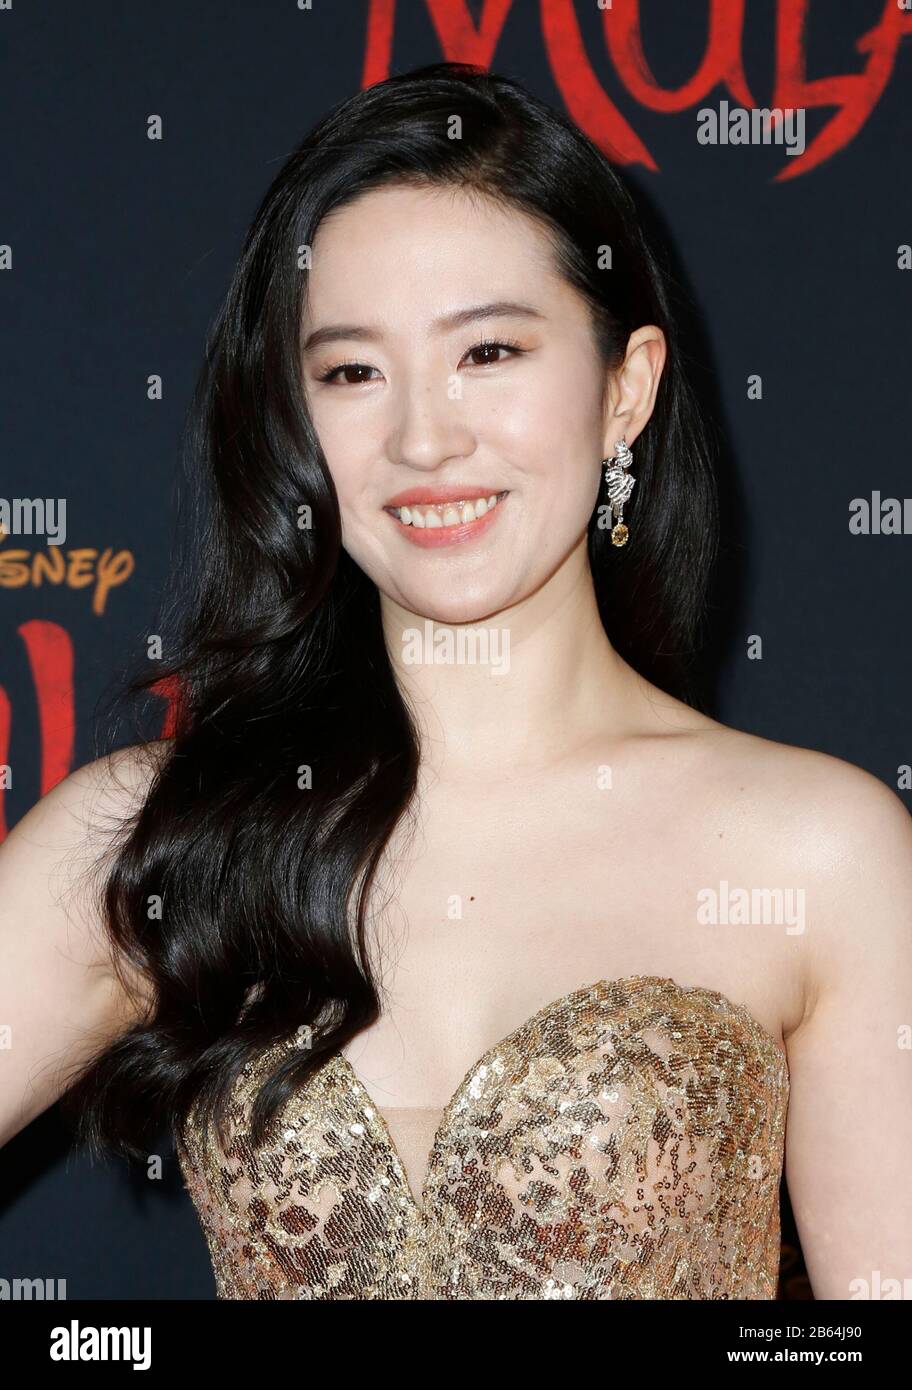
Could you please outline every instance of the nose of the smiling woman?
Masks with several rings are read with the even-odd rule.
[[[428,471],[475,448],[459,377],[423,371],[399,382],[386,450],[393,463]],[[459,395],[457,395],[459,392]]]

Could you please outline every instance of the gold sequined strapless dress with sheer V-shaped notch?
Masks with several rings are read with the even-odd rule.
[[[177,1143],[220,1298],[776,1298],[788,1068],[724,995],[627,976],[546,1004],[469,1069],[425,1165],[435,1112],[403,1161],[407,1116],[342,1052],[254,1148],[296,1045],[247,1062],[225,1147],[195,1112]]]

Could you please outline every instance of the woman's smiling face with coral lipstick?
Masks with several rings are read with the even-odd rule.
[[[317,231],[302,342],[342,541],[386,598],[481,620],[584,543],[608,375],[531,218],[450,189],[363,195]]]

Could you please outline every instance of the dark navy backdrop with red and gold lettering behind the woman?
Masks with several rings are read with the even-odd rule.
[[[895,0],[745,10],[0,3],[0,496],[68,506],[60,555],[0,542],[0,837],[95,756],[99,696],[157,630],[181,421],[266,185],[329,104],[441,57],[569,110],[673,245],[724,441],[713,713],[909,796],[912,541],[852,534],[849,505],[912,491],[912,17]],[[723,100],[804,107],[806,152],[701,145],[698,111]],[[71,1298],[214,1291],[174,1159],[156,1183],[90,1166],[56,1109],[0,1154],[0,1277],[64,1277]],[[788,1211],[783,1270],[805,1297]]]

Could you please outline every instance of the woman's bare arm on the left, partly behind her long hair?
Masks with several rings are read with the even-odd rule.
[[[113,967],[97,869],[165,744],[76,769],[0,845],[0,1144],[142,1013],[142,981],[128,972],[128,992]]]

